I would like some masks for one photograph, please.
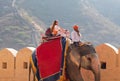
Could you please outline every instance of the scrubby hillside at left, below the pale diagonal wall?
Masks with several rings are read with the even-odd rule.
[[[12,0],[0,0],[0,49],[36,46],[34,27],[12,6]]]

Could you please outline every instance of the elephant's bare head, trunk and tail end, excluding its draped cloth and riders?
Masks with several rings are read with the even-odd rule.
[[[34,74],[33,81],[40,80],[35,53],[36,52],[33,52],[31,56],[32,60],[34,61],[30,60],[29,81],[31,69],[33,70]],[[94,74],[95,81],[100,81],[100,62],[92,44],[82,43],[80,46],[74,46],[73,44],[70,44],[66,52],[65,60],[65,74],[67,77],[66,81],[84,81],[84,78],[82,78],[81,75],[81,68],[91,70]]]

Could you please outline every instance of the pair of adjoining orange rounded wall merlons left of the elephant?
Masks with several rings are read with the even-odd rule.
[[[0,50],[0,81],[28,81],[29,57],[34,48],[18,52],[12,48]]]

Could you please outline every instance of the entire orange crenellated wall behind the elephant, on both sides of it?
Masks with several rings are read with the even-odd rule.
[[[95,47],[101,63],[101,81],[120,81],[120,49],[109,43]],[[29,60],[34,47],[0,50],[0,81],[28,81]],[[94,81],[91,71],[81,68],[85,81]],[[31,75],[31,81],[33,75]]]

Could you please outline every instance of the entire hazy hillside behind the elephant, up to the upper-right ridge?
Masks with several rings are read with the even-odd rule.
[[[120,47],[120,27],[89,0],[0,0],[0,48],[36,47],[53,20],[72,31],[78,24],[83,41]]]

